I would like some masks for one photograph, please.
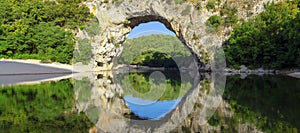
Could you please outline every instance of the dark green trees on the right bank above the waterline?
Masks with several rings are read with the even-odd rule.
[[[300,66],[300,1],[271,3],[235,27],[225,47],[229,67],[281,69]]]

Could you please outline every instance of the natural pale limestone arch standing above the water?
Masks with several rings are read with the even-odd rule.
[[[220,39],[214,33],[206,32],[206,20],[211,13],[202,13],[191,3],[175,4],[172,0],[145,0],[121,3],[94,1],[87,3],[100,23],[100,34],[94,41],[95,70],[112,70],[112,59],[122,51],[122,43],[134,26],[149,21],[160,21],[198,60],[205,58],[207,64],[213,54],[207,47],[219,46]],[[203,56],[206,54],[206,56]],[[204,68],[201,64],[200,67]]]

